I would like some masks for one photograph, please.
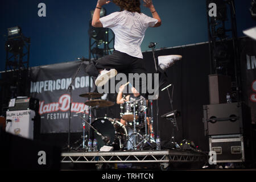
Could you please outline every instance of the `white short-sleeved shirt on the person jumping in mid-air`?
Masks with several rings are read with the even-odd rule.
[[[104,28],[111,28],[115,34],[114,48],[130,56],[143,58],[141,43],[148,27],[154,27],[157,19],[143,13],[130,11],[115,12],[100,18]]]

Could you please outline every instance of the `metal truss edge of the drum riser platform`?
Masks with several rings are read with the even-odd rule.
[[[203,152],[160,151],[110,151],[110,152],[63,152],[61,163],[204,163],[208,156]]]

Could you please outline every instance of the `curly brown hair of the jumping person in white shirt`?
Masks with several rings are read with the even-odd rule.
[[[121,11],[127,10],[130,12],[141,13],[141,1],[140,0],[113,0],[115,5],[121,8]]]

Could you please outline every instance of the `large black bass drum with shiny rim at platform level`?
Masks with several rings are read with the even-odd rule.
[[[104,137],[108,137],[110,143],[108,146],[113,146],[114,150],[122,150],[125,147],[126,139],[128,138],[127,130],[122,123],[117,121],[117,119],[112,118],[98,118],[93,123],[92,126],[98,130]],[[104,140],[101,136],[94,131],[94,138],[98,142],[98,150],[105,146]]]

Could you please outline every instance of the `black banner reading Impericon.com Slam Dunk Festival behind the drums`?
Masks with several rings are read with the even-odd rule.
[[[81,69],[72,83],[71,98],[68,86],[79,67]],[[31,97],[40,100],[41,133],[68,132],[70,100],[72,100],[71,132],[82,131],[82,119],[76,113],[88,109],[88,106],[84,104],[87,98],[79,95],[95,90],[93,79],[87,75],[85,67],[86,62],[73,61],[31,68],[30,93]],[[88,119],[88,114],[89,111],[86,110],[86,114],[83,115],[85,119]]]

